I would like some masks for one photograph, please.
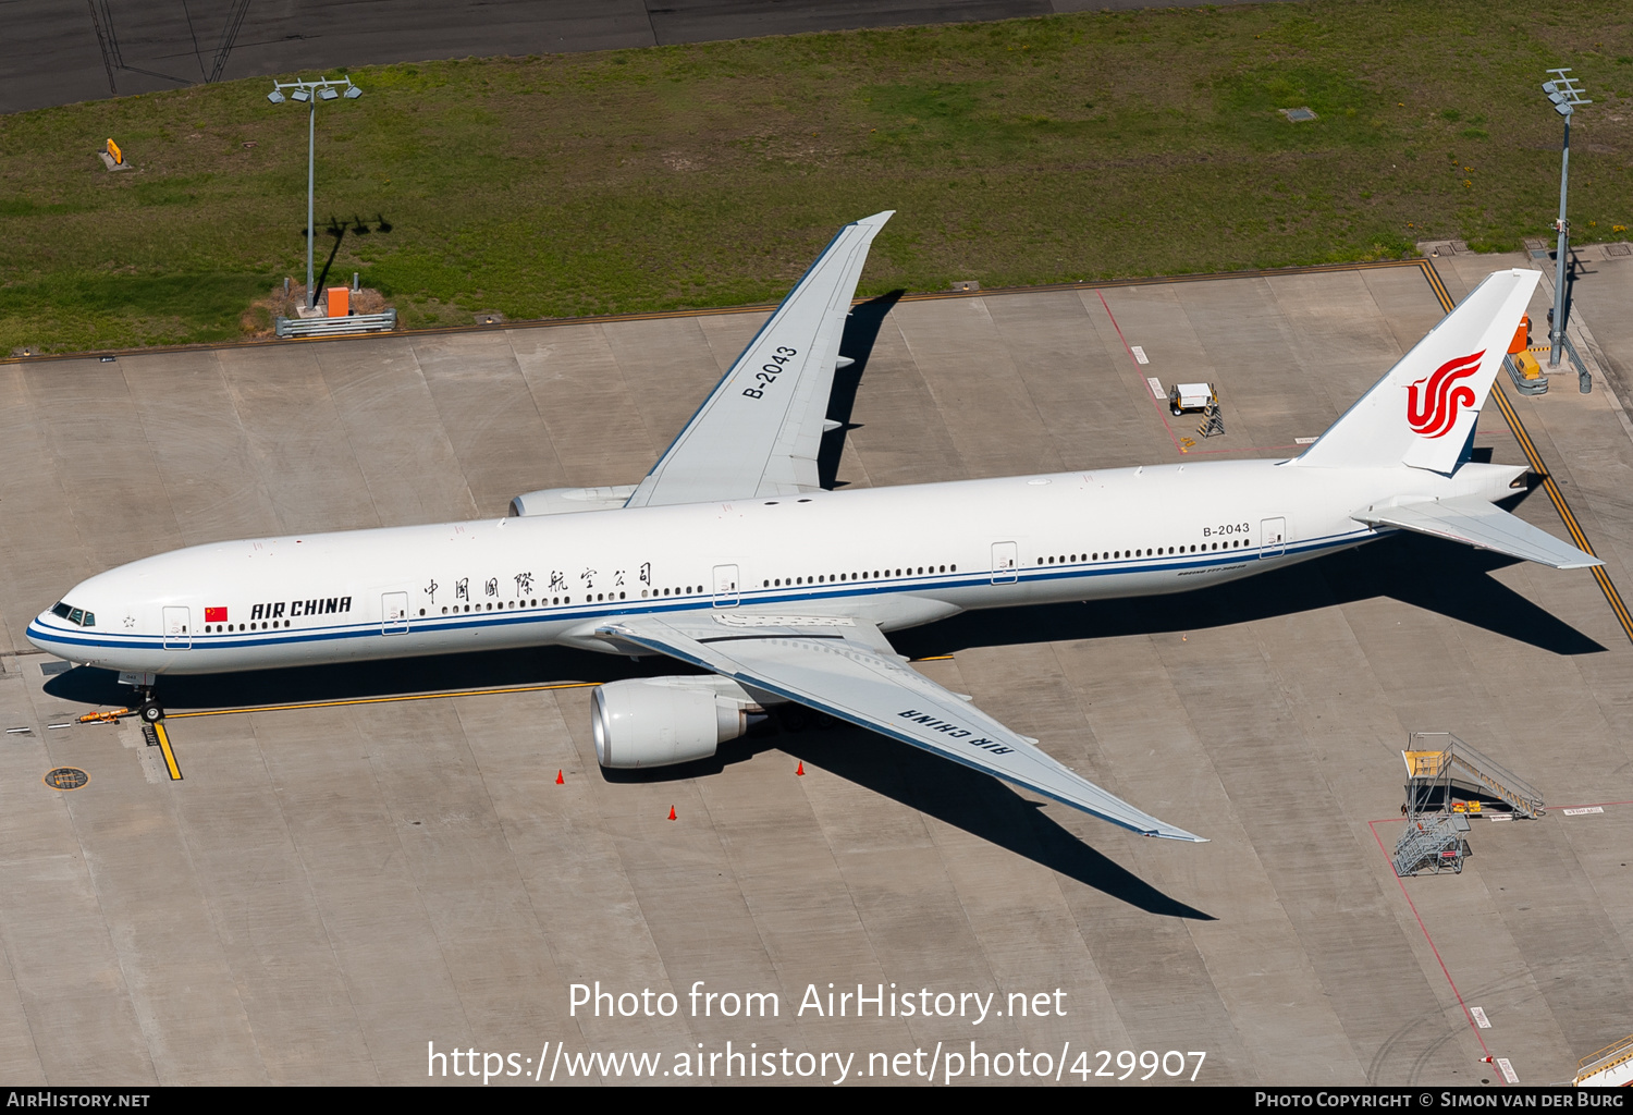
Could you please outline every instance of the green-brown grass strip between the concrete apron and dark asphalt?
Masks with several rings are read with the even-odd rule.
[[[351,72],[317,211],[407,325],[777,299],[898,209],[862,292],[1511,248],[1633,224],[1633,7],[1311,0]],[[209,341],[304,281],[307,113],[269,80],[0,116],[0,356]],[[1308,104],[1319,119],[1277,111]],[[113,135],[136,170],[93,152]],[[390,232],[377,232],[384,217]],[[335,240],[318,233],[318,266]]]

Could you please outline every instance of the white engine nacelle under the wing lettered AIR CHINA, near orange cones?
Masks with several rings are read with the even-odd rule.
[[[707,759],[759,720],[761,707],[725,677],[632,677],[593,691],[590,726],[604,767]]]

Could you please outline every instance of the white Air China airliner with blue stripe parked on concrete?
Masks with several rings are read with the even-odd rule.
[[[639,485],[529,491],[505,519],[247,539],[132,562],[28,627],[162,674],[565,643],[704,676],[594,691],[596,759],[712,756],[799,702],[1114,824],[1182,841],[911,669],[887,632],[965,609],[1181,593],[1417,531],[1555,568],[1599,562],[1493,506],[1468,459],[1537,271],[1497,271],[1303,454],[825,491],[816,452],[869,245],[846,225]]]

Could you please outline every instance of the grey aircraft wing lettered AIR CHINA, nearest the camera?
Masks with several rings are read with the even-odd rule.
[[[617,619],[596,633],[702,666],[750,691],[820,709],[1143,836],[1204,842],[1079,779],[1034,746],[1035,740],[924,677],[888,650],[869,620],[683,612]]]

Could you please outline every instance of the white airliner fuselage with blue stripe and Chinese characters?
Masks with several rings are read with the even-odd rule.
[[[803,496],[196,545],[93,576],[29,624],[41,650],[199,674],[567,643],[696,607],[856,615],[883,630],[977,607],[1181,593],[1380,537],[1391,500],[1497,500],[1466,464],[1146,465]],[[67,611],[67,609],[64,609]]]

